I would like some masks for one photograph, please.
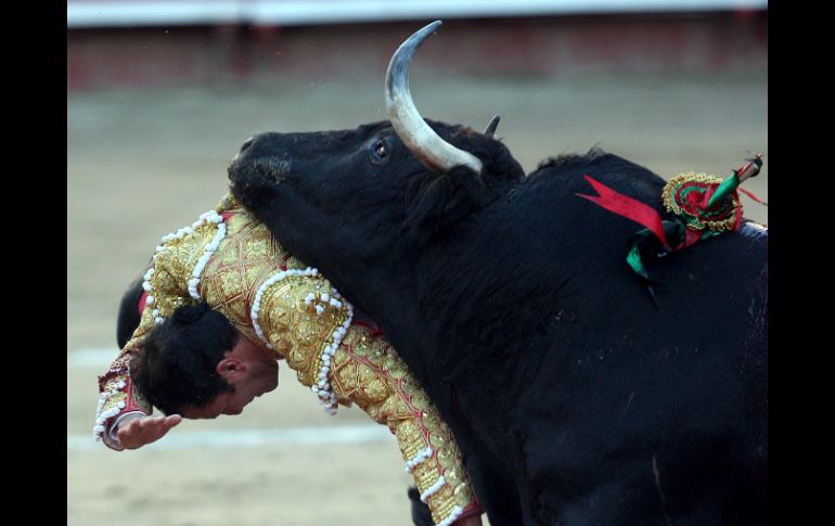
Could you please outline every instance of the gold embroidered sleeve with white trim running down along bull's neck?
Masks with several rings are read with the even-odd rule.
[[[280,272],[259,291],[258,335],[329,412],[357,403],[397,437],[406,471],[439,525],[481,509],[447,424],[394,347],[351,323],[350,307],[312,269]]]

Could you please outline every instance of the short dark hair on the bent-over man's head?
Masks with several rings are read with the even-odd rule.
[[[147,333],[143,350],[130,360],[130,377],[165,414],[207,406],[234,390],[216,367],[237,338],[229,320],[205,302],[183,305]]]

